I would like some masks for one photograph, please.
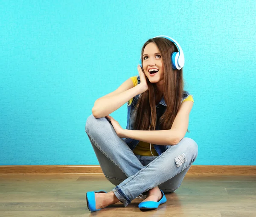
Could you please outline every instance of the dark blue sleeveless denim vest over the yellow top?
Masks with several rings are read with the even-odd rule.
[[[138,84],[140,83],[140,76],[137,76],[137,83]],[[185,100],[188,96],[189,96],[189,92],[183,91],[182,101]],[[136,113],[137,113],[137,110],[135,109],[135,106],[138,102],[139,97],[140,97],[140,94],[136,95],[133,98],[131,105],[129,104],[129,101],[127,103],[128,113],[127,113],[126,129],[128,129],[128,130],[134,130],[134,121],[135,121],[135,117],[136,117]],[[161,101],[156,106],[156,110],[157,110],[156,130],[158,130],[158,128],[159,128],[158,120],[163,115],[163,113],[165,112],[166,107],[167,107],[167,105],[164,101],[164,98],[162,97]],[[125,143],[129,146],[129,148],[131,148],[131,150],[134,150],[134,148],[140,142],[140,140],[134,140],[134,139],[131,139],[131,138],[122,138],[122,140],[125,141]],[[155,144],[153,144],[153,145],[154,145],[155,150],[157,151],[157,154],[159,154],[159,155],[162,154],[163,152],[165,152],[170,147],[170,146],[162,146],[162,145],[155,145]]]

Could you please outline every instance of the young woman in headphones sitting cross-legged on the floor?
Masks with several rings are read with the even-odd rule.
[[[183,90],[184,55],[168,36],[149,39],[141,51],[139,76],[97,99],[85,131],[112,191],[87,192],[87,207],[98,211],[138,195],[140,209],[157,208],[174,192],[198,155],[198,145],[184,137],[194,100]],[[109,116],[127,102],[126,129]]]

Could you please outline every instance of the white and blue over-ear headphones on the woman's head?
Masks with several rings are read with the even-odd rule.
[[[166,38],[166,39],[172,41],[176,45],[179,52],[173,52],[172,53],[172,56],[171,56],[172,69],[181,69],[184,66],[185,59],[184,59],[184,54],[183,54],[183,51],[182,51],[180,45],[177,43],[177,41],[175,41],[174,39],[172,39],[172,38],[170,38],[166,35],[159,35],[159,36],[156,36],[154,38],[157,38],[157,37]],[[141,58],[140,58],[140,66],[142,68]]]

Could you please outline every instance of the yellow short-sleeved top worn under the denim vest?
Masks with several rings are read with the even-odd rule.
[[[135,87],[138,84],[137,83],[137,76],[130,77],[130,78],[131,78],[131,80],[134,84],[134,87]],[[131,100],[129,100],[129,105],[131,105],[132,100],[133,100],[133,98]],[[189,95],[185,100],[182,101],[182,103],[185,102],[185,101],[193,101],[194,102],[192,95]],[[150,152],[150,147],[149,146],[150,146],[149,143],[145,143],[143,141],[140,141],[138,143],[138,145],[134,148],[133,152],[134,152],[134,154],[137,154],[137,155],[152,156],[152,154],[153,154],[154,156],[157,156],[158,154],[157,154],[157,151],[154,149],[153,144],[151,144],[152,154]]]

